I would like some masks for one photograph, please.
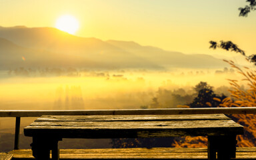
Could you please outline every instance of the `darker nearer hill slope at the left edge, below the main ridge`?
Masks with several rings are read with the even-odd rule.
[[[21,47],[0,38],[0,69],[12,69],[17,67],[87,67],[95,62],[87,59],[79,59],[77,56],[63,56],[59,53],[51,53],[41,49],[29,49]]]

